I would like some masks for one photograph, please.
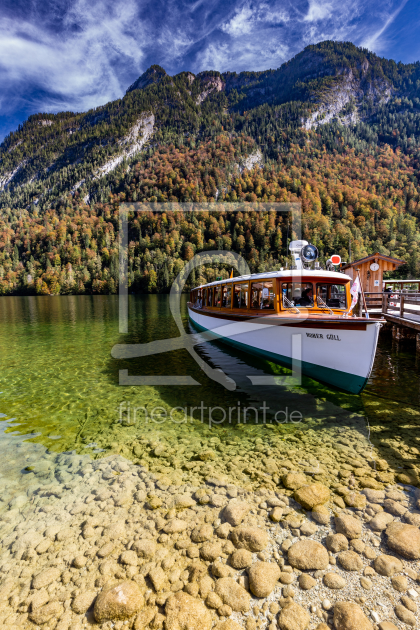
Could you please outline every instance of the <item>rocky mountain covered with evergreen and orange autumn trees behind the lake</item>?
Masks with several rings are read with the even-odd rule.
[[[418,275],[419,97],[419,62],[321,42],[264,72],[151,66],[121,99],[32,115],[0,146],[0,294],[115,292],[122,201],[300,201],[321,259],[351,239]],[[284,264],[287,219],[147,214],[130,239],[131,289],[167,290],[201,249]]]

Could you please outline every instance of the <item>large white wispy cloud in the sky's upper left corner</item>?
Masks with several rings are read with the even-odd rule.
[[[70,107],[115,98],[124,72],[116,64],[140,66],[147,40],[134,38],[128,27],[137,6],[120,2],[103,11],[103,3],[80,1],[64,17],[64,32],[45,31],[34,22],[6,18],[0,25],[0,80],[37,86],[38,91]],[[80,25],[73,29],[71,26]],[[4,98],[2,105],[4,106]],[[44,97],[43,97],[44,98]],[[95,102],[96,101],[96,102]]]

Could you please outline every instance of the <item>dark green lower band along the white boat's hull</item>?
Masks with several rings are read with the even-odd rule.
[[[200,324],[197,324],[193,319],[191,319],[191,323],[193,323],[193,325],[200,330],[210,330],[209,328],[200,326]],[[212,331],[210,330],[210,332]],[[214,334],[215,333],[213,333],[213,335]],[[222,337],[221,335],[217,336],[219,337],[220,341],[223,341],[223,343],[232,346],[232,348],[237,348],[237,350],[248,352],[255,357],[263,358],[266,360],[268,359],[273,363],[278,363],[279,365],[283,365],[284,367],[292,369],[292,358],[290,357],[278,355],[277,353],[270,352],[269,350],[259,350],[258,348],[249,346],[246,343],[240,343],[239,341],[234,341],[227,337]],[[365,389],[366,383],[368,382],[367,377],[358,376],[356,374],[349,374],[348,372],[341,372],[340,370],[333,370],[331,367],[308,363],[307,361],[302,361],[302,374],[305,374],[305,376],[309,376],[311,379],[314,379],[314,381],[320,381],[328,385],[333,385],[334,387],[343,389],[343,391],[350,392],[351,394],[360,394],[360,392]]]

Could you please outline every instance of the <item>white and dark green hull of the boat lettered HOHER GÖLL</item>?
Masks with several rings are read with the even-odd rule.
[[[344,391],[359,393],[370,376],[380,323],[352,318],[327,320],[229,318],[188,306],[191,321],[220,340],[286,367],[300,364],[302,374]],[[260,321],[258,321],[260,319]],[[295,348],[295,350],[293,350]],[[296,348],[301,348],[296,356]]]

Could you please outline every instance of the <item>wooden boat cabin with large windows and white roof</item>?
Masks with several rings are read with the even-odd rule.
[[[259,273],[211,282],[190,292],[191,307],[232,311],[254,316],[292,314],[305,309],[314,314],[341,314],[351,304],[351,278],[320,270]],[[307,311],[306,311],[307,309]]]

